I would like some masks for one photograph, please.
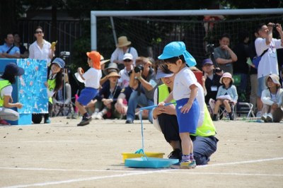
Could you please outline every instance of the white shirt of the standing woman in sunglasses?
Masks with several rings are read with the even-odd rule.
[[[44,41],[44,44],[43,44],[43,47],[42,49],[37,45],[37,42],[33,42],[33,44],[30,45],[29,47],[29,56],[28,58],[31,58],[31,59],[44,59],[47,61],[47,64],[50,64],[50,53],[51,53],[51,44],[50,42],[47,42],[46,40],[43,40]]]

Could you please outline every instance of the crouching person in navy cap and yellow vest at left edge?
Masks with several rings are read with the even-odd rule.
[[[19,117],[18,112],[11,110],[11,107],[22,108],[20,102],[13,103],[11,84],[16,83],[16,76],[21,76],[25,73],[23,68],[16,64],[10,63],[5,66],[4,74],[0,77],[0,125],[8,125],[6,120],[16,121]]]

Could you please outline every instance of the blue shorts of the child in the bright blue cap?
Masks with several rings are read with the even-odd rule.
[[[189,112],[183,114],[180,112],[183,105],[187,103],[188,98],[183,98],[180,100],[177,100],[176,105],[176,114],[179,124],[179,133],[183,132],[189,132],[192,134],[195,134],[195,131],[197,129],[197,122],[200,118],[200,106],[199,102],[195,99],[194,102],[192,102],[192,107],[190,108]]]

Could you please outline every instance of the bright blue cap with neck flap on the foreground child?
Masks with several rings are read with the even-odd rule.
[[[163,53],[158,56],[158,59],[169,59],[183,55],[188,66],[195,66],[197,61],[192,55],[187,52],[184,42],[170,42],[163,49]]]

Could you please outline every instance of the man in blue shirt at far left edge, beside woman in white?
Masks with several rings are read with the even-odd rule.
[[[13,34],[7,33],[4,40],[4,45],[0,46],[0,58],[20,58],[20,49],[13,44]]]

